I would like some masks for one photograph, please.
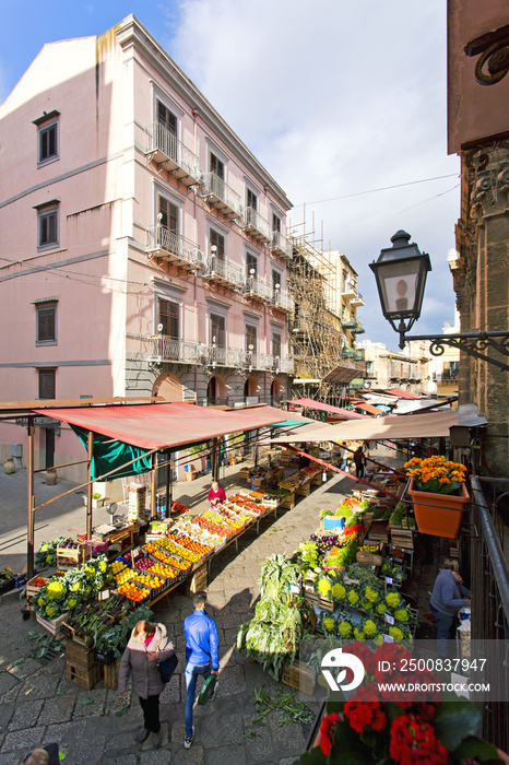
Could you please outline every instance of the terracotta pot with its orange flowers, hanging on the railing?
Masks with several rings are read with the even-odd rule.
[[[412,482],[415,520],[421,533],[457,539],[463,510],[470,502],[465,486],[466,468],[445,457],[414,457],[405,468]]]

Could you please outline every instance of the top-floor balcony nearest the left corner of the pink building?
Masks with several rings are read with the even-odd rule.
[[[186,186],[198,186],[201,183],[201,170],[198,156],[188,149],[164,125],[152,122],[145,128],[145,156],[170,173]]]

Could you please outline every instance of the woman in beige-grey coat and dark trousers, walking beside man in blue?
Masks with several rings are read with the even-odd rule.
[[[137,741],[143,743],[152,732],[154,749],[161,746],[159,695],[165,688],[157,664],[174,654],[175,646],[167,637],[164,624],[143,620],[132,631],[120,661],[118,692],[126,693],[128,676],[132,672],[132,692],[143,709],[143,728],[137,733]]]

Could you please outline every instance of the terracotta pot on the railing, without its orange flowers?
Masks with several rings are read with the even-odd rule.
[[[415,520],[421,533],[431,537],[457,539],[463,520],[463,510],[470,502],[470,495],[464,483],[461,484],[461,495],[434,494],[417,492],[414,480],[410,484],[409,494],[414,502]]]

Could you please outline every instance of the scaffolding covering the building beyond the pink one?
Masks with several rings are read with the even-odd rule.
[[[288,286],[295,301],[289,318],[291,355],[295,362],[296,379],[292,395],[310,396],[317,400],[338,403],[345,396],[344,381],[324,381],[323,378],[339,364],[359,372],[364,368],[342,358],[344,332],[338,315],[339,263],[324,251],[321,239],[313,233],[292,235],[293,258],[288,266]],[[341,274],[340,274],[341,276]],[[308,385],[306,382],[309,380]]]

